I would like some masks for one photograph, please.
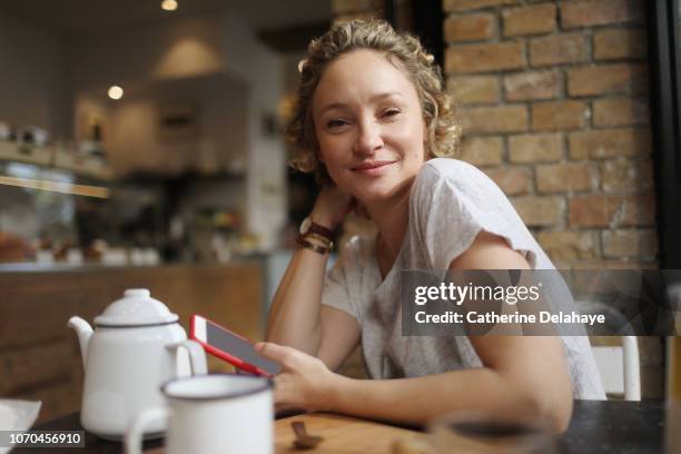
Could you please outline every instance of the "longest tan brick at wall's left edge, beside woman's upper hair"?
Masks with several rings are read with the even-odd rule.
[[[447,73],[501,71],[525,66],[522,42],[451,47],[445,56]]]

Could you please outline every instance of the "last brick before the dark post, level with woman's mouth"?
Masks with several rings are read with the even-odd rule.
[[[610,160],[601,165],[601,188],[605,193],[643,193],[654,188],[652,162]]]

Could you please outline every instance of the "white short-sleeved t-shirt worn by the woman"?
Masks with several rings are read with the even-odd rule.
[[[374,239],[353,237],[347,243],[326,276],[322,300],[357,319],[369,377],[416,377],[482,366],[466,336],[402,335],[399,283],[403,269],[446,270],[481,230],[505,238],[533,269],[555,269],[502,190],[481,170],[455,159],[432,159],[420,171],[409,195],[404,241],[385,279]],[[555,292],[561,292],[554,295],[561,305],[574,306],[566,287]],[[605,398],[589,338],[562,340],[574,397]]]

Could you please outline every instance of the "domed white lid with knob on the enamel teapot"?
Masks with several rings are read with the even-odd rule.
[[[97,326],[148,326],[166,325],[179,320],[168,307],[154,299],[146,288],[131,288],[124,297],[109,305],[106,310],[95,317]]]

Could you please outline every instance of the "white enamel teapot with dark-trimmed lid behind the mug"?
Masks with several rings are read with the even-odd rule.
[[[177,314],[149,296],[147,289],[129,289],[95,317],[97,330],[80,317],[76,329],[85,366],[80,423],[102,438],[120,441],[138,413],[165,405],[160,385],[191,372],[206,374],[206,354],[187,340]],[[166,423],[148,426],[147,438],[162,436]]]

